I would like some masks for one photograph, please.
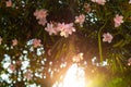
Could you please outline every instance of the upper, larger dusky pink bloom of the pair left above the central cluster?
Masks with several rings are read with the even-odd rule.
[[[37,20],[46,18],[46,16],[47,16],[47,10],[45,10],[45,9],[36,10],[34,12],[34,15],[36,16]]]

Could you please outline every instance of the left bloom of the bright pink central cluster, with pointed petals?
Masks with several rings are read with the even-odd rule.
[[[46,32],[49,33],[49,35],[57,35],[58,30],[57,27],[55,27],[55,25],[52,23],[47,23],[47,27],[45,28]]]

